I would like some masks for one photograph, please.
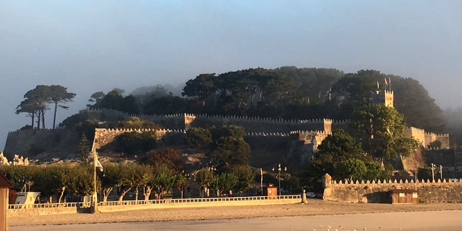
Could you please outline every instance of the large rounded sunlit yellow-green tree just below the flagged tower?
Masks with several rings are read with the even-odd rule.
[[[350,126],[364,151],[378,163],[391,161],[397,155],[408,157],[419,143],[407,138],[403,116],[383,104],[363,106],[353,114]]]

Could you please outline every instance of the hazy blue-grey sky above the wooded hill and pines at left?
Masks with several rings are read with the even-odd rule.
[[[361,69],[416,79],[459,107],[462,1],[0,0],[0,150],[36,85],[76,93],[184,85],[201,73],[281,66]],[[51,127],[52,111],[46,114]]]

